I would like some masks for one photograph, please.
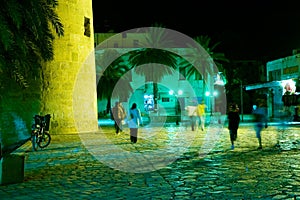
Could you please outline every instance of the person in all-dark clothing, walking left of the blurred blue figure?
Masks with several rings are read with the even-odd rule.
[[[234,141],[237,139],[237,132],[240,124],[239,108],[233,103],[229,106],[228,114],[228,129],[230,135],[231,149],[234,149]]]

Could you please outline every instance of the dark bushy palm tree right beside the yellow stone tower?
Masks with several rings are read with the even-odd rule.
[[[132,92],[130,79],[126,72],[130,66],[126,55],[120,56],[115,49],[105,49],[100,55],[96,54],[97,97],[107,99],[106,112],[110,112],[111,99],[127,99]]]

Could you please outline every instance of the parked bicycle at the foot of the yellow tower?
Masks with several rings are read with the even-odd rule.
[[[43,149],[50,144],[49,126],[51,116],[50,114],[45,116],[35,115],[33,118],[34,124],[31,131],[31,143],[32,150],[37,151],[39,147]]]

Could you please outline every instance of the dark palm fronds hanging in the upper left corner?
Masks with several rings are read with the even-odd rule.
[[[53,59],[53,32],[64,35],[57,6],[58,0],[2,1],[0,75],[26,88],[29,74],[36,75],[42,62]]]

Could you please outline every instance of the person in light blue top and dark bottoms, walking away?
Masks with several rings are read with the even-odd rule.
[[[131,108],[129,109],[128,117],[129,117],[128,127],[130,129],[130,141],[131,143],[136,143],[138,137],[138,128],[140,125],[143,124],[141,112],[137,108],[136,103],[133,103]]]

